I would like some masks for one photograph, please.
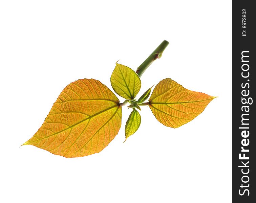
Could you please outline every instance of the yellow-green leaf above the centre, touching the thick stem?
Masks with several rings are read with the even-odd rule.
[[[116,94],[132,100],[141,89],[141,79],[132,69],[116,63],[110,77],[112,88]]]

